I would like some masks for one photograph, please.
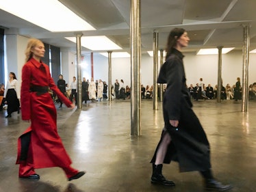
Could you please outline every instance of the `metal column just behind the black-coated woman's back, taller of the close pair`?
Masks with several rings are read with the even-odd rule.
[[[153,109],[157,110],[158,33],[153,34]]]

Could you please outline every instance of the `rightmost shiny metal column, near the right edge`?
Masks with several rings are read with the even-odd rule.
[[[248,66],[250,34],[249,26],[244,26],[244,46],[243,46],[243,74],[242,74],[242,112],[248,111]]]

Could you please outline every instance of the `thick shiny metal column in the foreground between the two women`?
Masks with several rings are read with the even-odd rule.
[[[141,135],[141,32],[140,0],[131,0],[131,135]]]

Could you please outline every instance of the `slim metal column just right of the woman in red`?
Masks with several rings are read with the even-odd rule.
[[[83,34],[76,34],[77,40],[77,109],[81,109],[81,36]]]

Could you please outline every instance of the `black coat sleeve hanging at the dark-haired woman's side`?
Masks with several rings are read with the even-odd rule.
[[[165,105],[168,111],[169,120],[179,120],[181,113],[182,98],[182,68],[181,63],[177,59],[171,59],[166,65],[166,96]]]

